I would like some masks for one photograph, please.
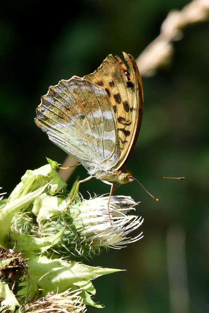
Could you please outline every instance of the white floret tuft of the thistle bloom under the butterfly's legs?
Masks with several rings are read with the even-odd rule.
[[[135,210],[137,203],[129,196],[112,196],[109,204],[111,225],[108,199],[104,196],[90,198],[70,209],[74,225],[82,224],[85,240],[91,239],[89,249],[91,246],[121,248],[143,237],[142,232],[134,238],[127,237],[143,223],[141,217],[126,214],[129,210]]]

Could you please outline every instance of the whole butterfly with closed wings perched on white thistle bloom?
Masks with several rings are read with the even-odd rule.
[[[134,180],[124,164],[140,131],[143,89],[135,59],[123,55],[130,72],[118,56],[110,54],[94,73],[50,86],[36,109],[36,125],[89,173],[79,181],[71,202],[79,184],[92,177],[111,185],[110,197],[113,182]]]

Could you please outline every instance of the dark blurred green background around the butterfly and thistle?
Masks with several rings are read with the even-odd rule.
[[[1,4],[0,186],[10,193],[27,169],[62,163],[66,154],[34,123],[40,97],[61,79],[92,73],[107,54],[135,58],[159,34],[162,21],[185,0],[13,1]],[[118,194],[141,203],[144,238],[87,262],[126,269],[94,281],[95,300],[109,313],[209,311],[209,23],[192,25],[175,43],[169,68],[143,78],[145,109],[127,168],[136,183]],[[86,177],[76,168],[69,180]],[[140,175],[185,176],[184,181]],[[81,185],[101,194],[102,182]],[[83,260],[86,262],[85,260]],[[99,309],[88,307],[88,312]]]

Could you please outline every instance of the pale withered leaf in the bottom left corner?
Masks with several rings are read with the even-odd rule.
[[[14,312],[15,306],[20,306],[15,295],[9,289],[9,286],[4,282],[0,282],[0,301],[1,306],[7,306],[11,312]]]

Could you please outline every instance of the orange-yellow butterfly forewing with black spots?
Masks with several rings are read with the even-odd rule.
[[[110,54],[94,73],[83,78],[105,89],[113,106],[120,139],[120,158],[115,170],[127,161],[135,146],[143,111],[143,90],[138,67],[130,54],[123,55],[131,74],[118,56]]]

